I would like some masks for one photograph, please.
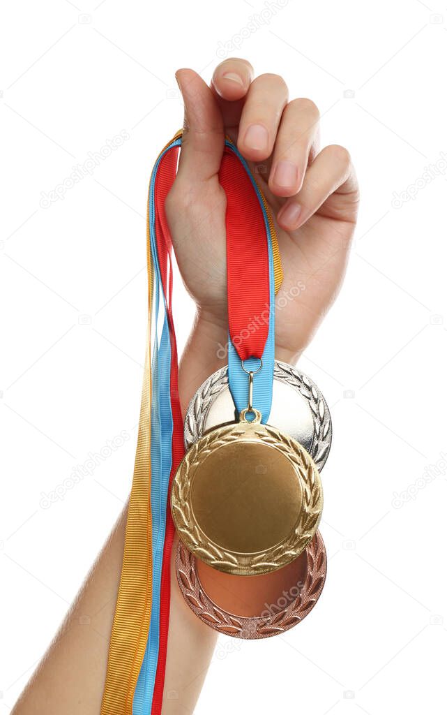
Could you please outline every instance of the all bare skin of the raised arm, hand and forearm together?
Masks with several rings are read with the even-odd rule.
[[[281,77],[253,79],[251,65],[228,59],[211,87],[191,69],[177,72],[185,104],[179,174],[166,204],[181,275],[196,302],[182,356],[182,408],[214,370],[226,343],[226,199],[218,172],[228,134],[248,160],[276,218],[284,280],[299,295],[276,313],[276,358],[295,363],[343,281],[356,224],[358,187],[348,152],[319,150],[318,109],[288,101]],[[254,129],[253,129],[254,127]],[[98,715],[124,549],[126,510],[14,715]],[[172,583],[163,715],[194,711],[216,635],[189,610]],[[185,657],[187,654],[187,657]]]

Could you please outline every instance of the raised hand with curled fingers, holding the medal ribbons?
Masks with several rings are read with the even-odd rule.
[[[228,134],[276,220],[284,273],[276,300],[286,296],[276,311],[276,350],[293,362],[343,280],[358,209],[349,154],[338,146],[320,152],[316,105],[310,99],[288,102],[281,77],[253,79],[245,60],[219,64],[211,87],[191,69],[176,77],[184,137],[166,215],[186,288],[199,318],[226,327],[226,197],[218,172]]]

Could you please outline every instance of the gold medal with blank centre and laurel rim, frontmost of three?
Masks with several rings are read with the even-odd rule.
[[[261,425],[261,414],[249,408],[238,423],[211,430],[191,447],[171,499],[186,548],[209,566],[242,576],[275,571],[297,558],[316,533],[323,507],[311,456]]]

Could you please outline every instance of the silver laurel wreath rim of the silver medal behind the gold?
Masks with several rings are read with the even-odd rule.
[[[326,400],[307,375],[279,360],[275,361],[273,378],[291,385],[307,400],[313,418],[313,439],[308,452],[321,471],[328,458],[332,440],[331,415]],[[197,390],[186,413],[184,430],[186,448],[191,447],[204,434],[209,409],[227,386],[228,368],[221,368]]]

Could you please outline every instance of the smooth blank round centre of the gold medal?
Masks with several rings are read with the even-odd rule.
[[[291,533],[302,507],[293,465],[273,447],[223,445],[199,465],[191,508],[210,541],[226,551],[256,553]]]

